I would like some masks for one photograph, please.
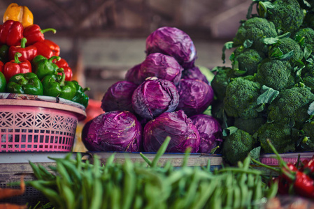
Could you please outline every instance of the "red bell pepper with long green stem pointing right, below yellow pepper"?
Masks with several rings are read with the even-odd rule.
[[[26,45],[34,45],[35,42],[45,40],[43,33],[47,31],[52,31],[53,33],[56,33],[55,29],[41,29],[38,24],[31,24],[30,26],[27,26],[26,28],[24,28],[23,33],[24,38],[27,38]]]

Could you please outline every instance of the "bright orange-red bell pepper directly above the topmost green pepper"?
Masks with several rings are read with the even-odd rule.
[[[34,43],[37,48],[37,54],[45,56],[45,58],[50,59],[52,56],[59,56],[60,47],[52,40],[42,40]]]

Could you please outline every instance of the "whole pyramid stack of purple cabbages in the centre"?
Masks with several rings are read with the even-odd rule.
[[[83,128],[91,151],[156,152],[167,136],[168,153],[210,153],[221,144],[221,127],[203,114],[213,88],[194,65],[197,51],[187,33],[162,27],[146,39],[146,58],[108,88],[105,113]]]

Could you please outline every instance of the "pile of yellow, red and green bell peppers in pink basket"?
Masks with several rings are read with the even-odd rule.
[[[11,3],[0,25],[0,93],[48,95],[78,102],[87,107],[89,97],[77,81],[60,47],[45,39],[27,6]]]

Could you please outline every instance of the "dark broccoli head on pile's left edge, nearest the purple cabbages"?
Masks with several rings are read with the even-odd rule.
[[[228,67],[216,67],[213,71],[215,71],[216,75],[210,82],[210,85],[213,88],[217,100],[222,101],[226,95],[229,80],[231,77],[234,77],[234,75],[232,74],[232,69]]]

